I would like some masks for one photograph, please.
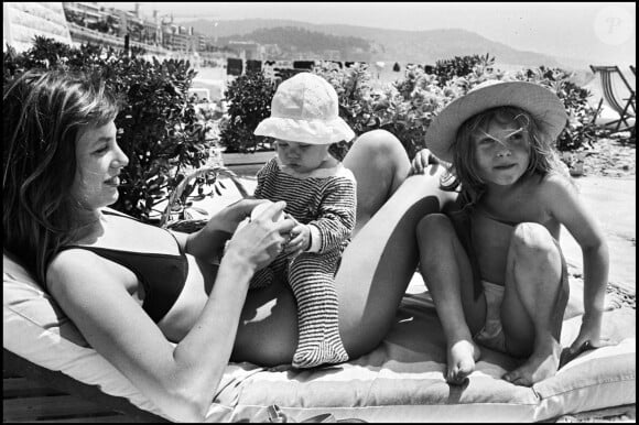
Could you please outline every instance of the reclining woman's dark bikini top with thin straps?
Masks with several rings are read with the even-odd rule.
[[[134,218],[124,215],[107,210],[104,212],[134,220]],[[171,236],[175,239],[173,233]],[[177,239],[175,239],[175,243],[177,243]],[[142,308],[155,323],[159,323],[173,307],[188,275],[188,260],[180,243],[177,243],[180,254],[134,252],[87,246],[66,246],[61,251],[75,248],[91,251],[136,273],[145,292]]]

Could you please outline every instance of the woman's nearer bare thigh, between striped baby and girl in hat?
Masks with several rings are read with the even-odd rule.
[[[440,189],[442,171],[408,177],[344,251],[335,287],[342,340],[351,358],[372,350],[393,325],[418,266],[418,222],[455,198]]]

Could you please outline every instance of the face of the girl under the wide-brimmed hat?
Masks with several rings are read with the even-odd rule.
[[[515,121],[491,120],[473,134],[479,176],[500,186],[516,183],[530,162],[530,135]]]

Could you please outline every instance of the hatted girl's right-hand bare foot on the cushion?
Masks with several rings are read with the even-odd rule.
[[[544,347],[538,347],[522,366],[502,378],[516,385],[532,386],[539,381],[554,377],[559,369],[561,351],[561,345],[551,339]]]

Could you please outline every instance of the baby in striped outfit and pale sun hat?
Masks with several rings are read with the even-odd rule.
[[[353,173],[328,148],[355,133],[338,116],[333,86],[311,73],[278,87],[271,117],[254,133],[274,138],[278,151],[258,172],[254,196],[285,200],[296,226],[282,254],[256,274],[251,286],[269,285],[274,274],[291,285],[299,327],[293,367],[346,361],[333,281],[355,228],[357,195]]]

